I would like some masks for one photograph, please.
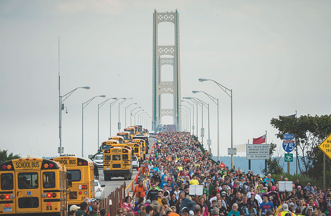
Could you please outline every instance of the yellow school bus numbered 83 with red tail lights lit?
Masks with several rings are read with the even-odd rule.
[[[67,170],[59,162],[21,158],[0,164],[0,215],[67,215]]]

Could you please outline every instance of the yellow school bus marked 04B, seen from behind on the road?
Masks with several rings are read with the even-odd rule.
[[[124,180],[131,180],[131,149],[112,146],[105,150],[103,157],[105,181],[111,180],[112,177],[124,177]]]

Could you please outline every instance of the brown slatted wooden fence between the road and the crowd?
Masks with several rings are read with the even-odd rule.
[[[110,193],[107,198],[101,200],[100,209],[106,208],[107,213],[109,215],[117,215],[117,209],[122,207],[122,203],[124,203],[125,193],[126,193],[126,184],[124,183],[116,188],[115,191]]]

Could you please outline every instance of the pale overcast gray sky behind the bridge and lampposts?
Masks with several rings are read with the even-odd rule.
[[[234,144],[268,130],[267,141],[280,145],[271,118],[295,110],[299,116],[330,114],[329,1],[2,0],[0,148],[23,157],[31,151],[37,155],[37,149],[40,157],[57,155],[59,36],[62,94],[91,86],[65,101],[65,153],[81,154],[81,103],[93,96],[134,98],[121,106],[122,126],[124,106],[130,103],[152,114],[153,12],[176,8],[181,95],[210,101],[192,94],[202,90],[219,98],[221,155],[230,147],[230,97],[212,82],[200,83],[200,77],[233,89]],[[166,43],[171,28],[160,25],[159,30],[165,32],[159,41]],[[103,100],[95,98],[84,109],[86,155],[97,148],[97,104]],[[217,155],[217,109],[209,103]],[[118,105],[112,108],[115,134]],[[100,109],[100,141],[108,136],[109,103]]]

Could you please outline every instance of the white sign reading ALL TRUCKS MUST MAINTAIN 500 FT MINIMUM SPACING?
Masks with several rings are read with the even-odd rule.
[[[269,144],[246,144],[247,160],[269,160]]]

